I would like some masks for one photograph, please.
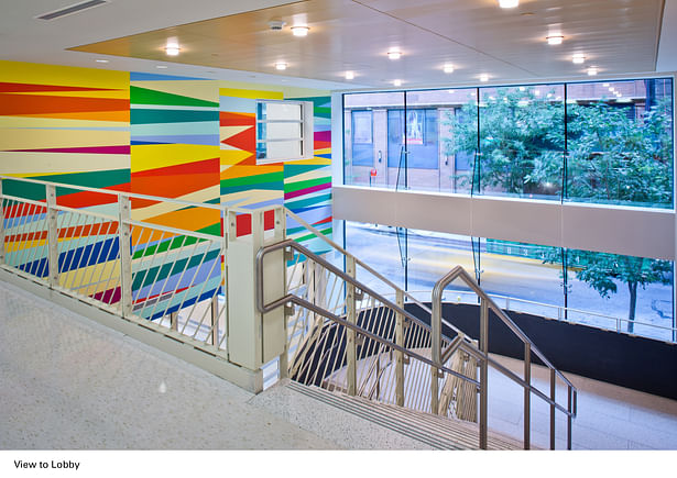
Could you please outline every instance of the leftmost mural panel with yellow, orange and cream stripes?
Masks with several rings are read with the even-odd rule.
[[[0,171],[24,178],[129,190],[129,73],[0,62]],[[4,192],[44,200],[44,188]],[[57,191],[72,208],[109,197]],[[105,205],[98,209],[106,209]]]

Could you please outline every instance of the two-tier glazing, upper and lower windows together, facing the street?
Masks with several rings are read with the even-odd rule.
[[[674,215],[670,77],[359,92],[345,93],[342,101],[347,186],[450,194],[456,202],[494,197],[535,207],[588,203],[612,208],[609,218],[645,214],[646,208]],[[480,213],[478,207],[467,209]],[[449,216],[465,211],[437,213],[452,224]],[[538,231],[506,241],[448,224],[415,229],[416,221],[384,219],[369,224],[364,215],[339,212],[339,219],[362,221],[346,222],[347,248],[359,255],[367,247],[359,257],[386,264],[389,275],[410,291],[428,293],[450,267],[463,264],[513,309],[677,340],[675,268],[664,253],[640,257],[610,254],[598,244],[593,251],[537,244],[539,235],[549,235]],[[578,231],[567,227],[596,225],[563,219],[557,226],[561,236],[572,236]],[[655,234],[669,241],[658,230],[638,234],[641,241]],[[456,299],[463,299],[458,292]]]

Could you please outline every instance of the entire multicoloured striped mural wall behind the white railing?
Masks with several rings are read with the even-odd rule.
[[[118,212],[114,194],[67,186],[245,209],[284,204],[330,235],[330,98],[307,93],[295,89],[287,96],[314,103],[315,156],[256,165],[255,100],[283,99],[284,88],[0,62],[0,174],[65,185],[57,188],[59,205],[110,215]],[[40,185],[6,180],[2,187],[6,194],[45,201]],[[133,200],[132,219],[217,235],[222,230],[218,211],[151,200]],[[238,230],[245,233],[247,215],[241,219]],[[37,277],[48,270],[44,221],[44,207],[6,210],[8,257],[32,257],[17,267]],[[61,285],[70,287],[84,276],[114,269],[120,251],[117,222],[72,226],[68,221],[59,214]],[[12,234],[25,224],[40,225],[30,237]],[[326,251],[294,221],[287,222],[287,233],[315,252]],[[220,286],[218,251],[195,255],[181,247],[185,244],[184,236],[150,227],[132,231],[134,304],[159,303],[165,292],[176,292],[160,309],[152,308],[149,319],[210,297]],[[90,285],[83,293],[116,303],[119,277]]]

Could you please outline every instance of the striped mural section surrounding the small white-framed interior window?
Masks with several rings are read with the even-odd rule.
[[[284,204],[324,234],[331,234],[331,110],[330,97],[294,98],[314,103],[314,157],[305,160],[256,165],[256,100],[281,100],[282,92],[220,90],[221,203],[256,209]],[[318,238],[302,232],[295,221],[287,234],[306,242],[317,253],[327,251]],[[248,231],[238,222],[238,233]]]

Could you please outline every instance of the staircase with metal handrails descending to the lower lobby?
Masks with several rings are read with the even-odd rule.
[[[531,400],[535,397],[549,405],[550,449],[555,449],[557,412],[567,418],[567,447],[571,448],[576,388],[462,267],[438,280],[428,308],[296,214],[285,213],[332,251],[320,256],[286,238],[267,242],[256,253],[256,309],[265,315],[284,308],[286,315],[287,343],[280,357],[280,378],[302,383],[290,387],[305,386],[298,390],[444,449],[529,449]],[[345,267],[328,260],[331,255],[342,256]],[[281,257],[284,289],[263,274],[270,262],[275,264]],[[478,297],[477,338],[441,316],[443,292],[454,281],[463,282]],[[405,301],[423,314],[410,313]],[[523,375],[489,355],[490,311],[524,344]],[[532,356],[549,369],[547,392],[531,381]],[[521,446],[489,432],[489,367],[524,389]],[[565,387],[564,394],[557,392],[558,382]],[[558,396],[566,397],[566,402],[559,402]]]

